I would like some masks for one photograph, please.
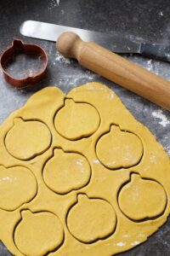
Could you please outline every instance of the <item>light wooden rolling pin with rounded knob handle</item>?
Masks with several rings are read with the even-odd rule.
[[[99,44],[83,42],[73,32],[61,34],[57,49],[65,57],[77,59],[83,67],[170,111],[170,82],[167,80]]]

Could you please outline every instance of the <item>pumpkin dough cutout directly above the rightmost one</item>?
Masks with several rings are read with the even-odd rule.
[[[107,168],[128,168],[135,166],[143,155],[143,144],[132,132],[121,131],[111,125],[111,131],[99,138],[96,154]]]

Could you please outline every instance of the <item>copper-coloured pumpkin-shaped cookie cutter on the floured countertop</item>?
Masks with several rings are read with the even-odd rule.
[[[14,58],[14,55],[19,53],[40,56],[42,60],[41,69],[37,73],[26,75],[26,77],[21,79],[14,78],[7,71],[7,63],[9,60]],[[42,79],[48,66],[48,56],[46,52],[37,44],[24,44],[21,40],[14,39],[11,47],[6,49],[3,52],[3,55],[1,55],[0,66],[3,70],[3,76],[8,84],[12,84],[14,87],[25,87],[27,84],[34,84],[35,82]]]

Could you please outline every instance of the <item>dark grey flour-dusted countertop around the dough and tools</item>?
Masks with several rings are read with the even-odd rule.
[[[65,26],[77,26],[99,32],[126,33],[152,43],[170,39],[169,0],[0,0],[0,54],[14,38],[37,43],[48,53],[48,73],[36,88],[22,90],[8,85],[0,71],[0,123],[14,109],[20,108],[36,91],[48,85],[57,85],[68,92],[73,87],[99,81],[115,90],[136,119],[146,125],[170,155],[170,113],[155,104],[122,89],[116,84],[89,72],[59,55],[52,42],[24,38],[19,26],[24,20],[40,20]],[[170,63],[149,60],[140,56],[126,56],[153,73],[170,80]],[[0,246],[0,255],[10,255]],[[170,219],[161,230],[144,244],[122,253],[124,256],[170,255]]]

